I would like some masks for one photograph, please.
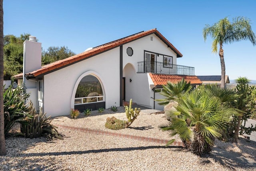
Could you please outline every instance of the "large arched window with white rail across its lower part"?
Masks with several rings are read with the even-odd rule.
[[[103,91],[99,80],[88,75],[82,78],[76,89],[75,105],[103,101]]]

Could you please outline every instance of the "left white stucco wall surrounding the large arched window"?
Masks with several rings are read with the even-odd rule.
[[[76,88],[86,74],[103,84],[106,108],[120,106],[120,48],[115,48],[44,76],[44,112],[68,115],[74,108]],[[80,79],[80,80],[78,80]]]

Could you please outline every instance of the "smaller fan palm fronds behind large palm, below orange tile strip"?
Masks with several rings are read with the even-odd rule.
[[[190,82],[186,82],[184,78],[178,83],[168,82],[166,85],[163,85],[163,91],[160,92],[165,98],[156,99],[156,101],[160,101],[159,105],[168,105],[171,101],[176,100],[180,93],[190,91],[191,89]]]

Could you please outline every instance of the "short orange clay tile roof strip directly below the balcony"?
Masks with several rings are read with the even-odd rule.
[[[190,82],[190,84],[202,84],[202,82],[197,78],[197,76],[185,76],[185,75],[165,75],[165,74],[152,74],[149,73],[155,86],[166,85],[167,82],[176,83],[185,79],[185,81]]]

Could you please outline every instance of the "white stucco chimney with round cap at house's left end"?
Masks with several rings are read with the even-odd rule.
[[[36,37],[29,36],[23,43],[23,75],[42,66],[42,44],[36,42]],[[24,78],[23,78],[24,80]]]

